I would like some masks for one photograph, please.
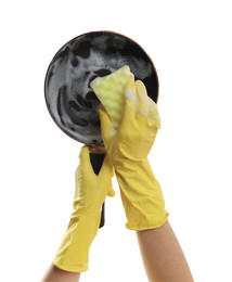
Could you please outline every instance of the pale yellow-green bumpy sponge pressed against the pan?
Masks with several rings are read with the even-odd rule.
[[[125,86],[130,81],[134,81],[134,76],[130,72],[130,67],[125,65],[111,75],[95,78],[90,84],[105,107],[115,129],[118,128],[124,113]]]

